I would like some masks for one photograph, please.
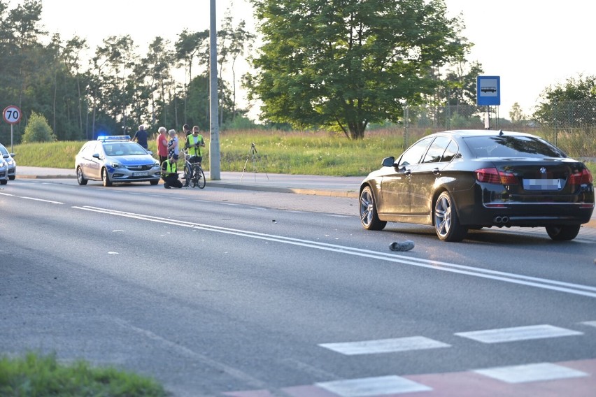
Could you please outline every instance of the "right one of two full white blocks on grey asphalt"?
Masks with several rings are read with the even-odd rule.
[[[469,338],[483,343],[515,342],[517,340],[558,338],[560,336],[583,335],[583,332],[559,328],[548,324],[516,326],[513,328],[487,329],[455,333],[462,338]]]

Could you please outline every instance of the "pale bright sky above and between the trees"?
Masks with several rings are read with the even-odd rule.
[[[10,1],[10,8],[18,2]],[[529,115],[544,89],[580,74],[596,75],[596,51],[590,44],[596,13],[593,1],[445,3],[448,17],[462,13],[466,26],[463,35],[474,43],[468,60],[480,62],[484,75],[496,75],[501,80],[500,117],[509,118],[513,103]],[[45,29],[59,32],[63,39],[75,34],[87,38],[91,48],[108,36],[129,34],[143,54],[156,36],[174,42],[185,28],[209,28],[209,0],[42,0],[42,4]],[[218,28],[230,8],[235,23],[246,20],[247,27],[254,27],[248,0],[216,0]]]

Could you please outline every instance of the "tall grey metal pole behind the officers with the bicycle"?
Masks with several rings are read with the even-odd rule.
[[[215,0],[211,0],[211,24],[209,27],[209,175],[220,180],[220,131],[218,117],[218,28],[215,24]]]

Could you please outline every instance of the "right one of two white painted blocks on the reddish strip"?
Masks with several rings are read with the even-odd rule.
[[[589,376],[579,370],[558,366],[553,363],[526,364],[473,370],[480,375],[492,377],[506,383],[540,382],[545,380],[568,379]]]

